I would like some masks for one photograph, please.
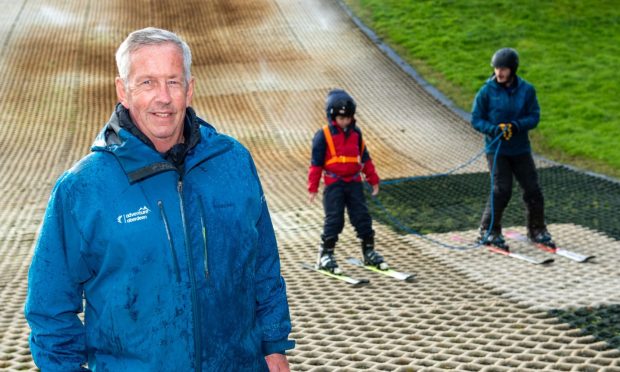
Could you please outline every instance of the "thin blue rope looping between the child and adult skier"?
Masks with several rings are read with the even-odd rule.
[[[494,195],[493,195],[493,188],[494,188],[494,182],[493,182],[493,175],[495,174],[495,165],[497,163],[497,155],[499,154],[499,149],[501,146],[501,141],[500,138],[503,136],[503,133],[501,133],[500,135],[498,135],[497,137],[495,137],[493,139],[493,141],[491,141],[491,143],[489,144],[489,146],[492,146],[494,143],[497,142],[497,148],[495,149],[495,155],[493,157],[493,165],[491,167],[491,194],[490,194],[490,207],[491,207],[491,223],[489,224],[489,228],[484,236],[483,240],[486,240],[489,237],[489,234],[493,228],[493,224],[494,224],[494,220],[495,220],[495,208],[494,208]],[[414,176],[414,177],[407,177],[407,178],[401,178],[401,179],[397,179],[397,180],[389,180],[389,181],[384,181],[381,184],[383,185],[395,185],[398,183],[402,183],[402,182],[407,182],[407,181],[414,181],[414,180],[420,180],[420,179],[427,179],[427,178],[434,178],[434,177],[444,177],[444,176],[449,176],[450,174],[458,171],[459,169],[462,169],[468,165],[470,165],[471,163],[473,163],[474,161],[476,161],[480,156],[482,156],[485,153],[485,150],[483,149],[482,151],[480,151],[478,154],[476,154],[474,157],[472,157],[471,159],[469,159],[468,161],[466,161],[465,163],[445,172],[445,173],[436,173],[436,174],[431,174],[431,175],[426,175],[426,176]],[[369,188],[369,190],[372,190],[372,186],[370,186],[368,183],[366,183],[366,187]],[[412,235],[416,235],[422,239],[428,240],[432,243],[435,243],[437,245],[440,245],[444,248],[448,248],[448,249],[452,249],[452,250],[468,250],[468,249],[474,249],[474,248],[478,248],[481,246],[480,242],[477,242],[475,244],[469,244],[466,246],[457,246],[457,245],[450,245],[450,244],[446,244],[444,242],[441,242],[437,239],[433,239],[430,238],[408,226],[406,226],[405,224],[403,224],[398,218],[396,218],[392,213],[390,213],[387,208],[383,205],[383,203],[381,203],[376,196],[372,196],[371,200],[377,205],[377,207],[379,209],[381,209],[381,211],[386,215],[386,217],[397,227],[399,228],[401,231],[407,232],[409,234]]]

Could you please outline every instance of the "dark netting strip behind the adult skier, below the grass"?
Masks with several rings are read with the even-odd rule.
[[[538,177],[547,224],[581,225],[620,239],[620,182],[555,164],[539,166]],[[490,189],[488,171],[384,180],[368,205],[375,220],[399,233],[466,231],[479,227]],[[504,227],[526,224],[521,195],[514,180]]]

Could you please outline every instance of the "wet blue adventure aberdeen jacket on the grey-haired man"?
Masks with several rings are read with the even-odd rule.
[[[294,346],[251,156],[193,118],[182,175],[115,112],[58,180],[25,307],[43,371],[264,371]]]

